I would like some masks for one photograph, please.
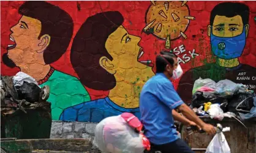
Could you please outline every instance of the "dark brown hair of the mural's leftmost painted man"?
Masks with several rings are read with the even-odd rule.
[[[55,62],[66,52],[73,34],[73,20],[67,12],[45,1],[26,1],[18,13],[41,22],[42,29],[38,38],[50,35],[50,44],[43,51],[46,64]]]

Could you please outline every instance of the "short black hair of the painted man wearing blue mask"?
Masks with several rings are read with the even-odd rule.
[[[222,2],[217,4],[211,11],[210,24],[213,26],[213,21],[216,15],[232,18],[239,15],[243,20],[243,24],[249,23],[250,10],[246,4],[240,2]]]

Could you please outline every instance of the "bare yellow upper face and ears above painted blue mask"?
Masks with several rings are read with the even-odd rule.
[[[213,21],[213,35],[217,37],[236,37],[242,34],[244,26],[246,27],[246,35],[249,25],[243,24],[241,16],[236,15],[232,18],[216,15]],[[208,26],[208,36],[211,34],[211,26]]]

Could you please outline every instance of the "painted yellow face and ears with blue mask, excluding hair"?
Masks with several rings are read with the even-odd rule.
[[[241,16],[232,18],[216,15],[213,26],[208,26],[213,54],[220,59],[235,59],[243,53],[249,25]]]

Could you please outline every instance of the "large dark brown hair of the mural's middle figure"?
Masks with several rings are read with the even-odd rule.
[[[111,90],[116,86],[113,74],[100,66],[100,58],[113,57],[105,48],[108,36],[124,22],[119,12],[102,12],[90,16],[75,35],[70,60],[80,81],[94,90]]]

